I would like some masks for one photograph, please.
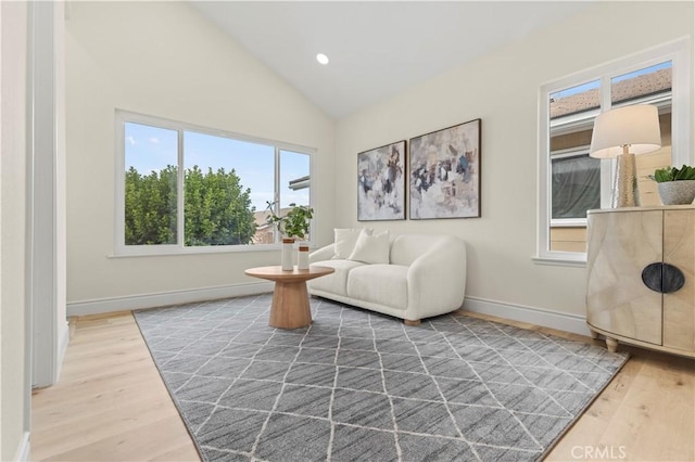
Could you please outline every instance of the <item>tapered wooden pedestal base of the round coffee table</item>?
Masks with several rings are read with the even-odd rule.
[[[268,325],[278,329],[306,328],[312,323],[308,292],[304,281],[276,281]]]

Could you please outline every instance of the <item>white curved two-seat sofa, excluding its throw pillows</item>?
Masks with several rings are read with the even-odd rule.
[[[336,270],[308,281],[312,295],[390,315],[412,325],[454,311],[464,303],[466,244],[456,236],[395,235],[388,241],[388,264],[356,261],[345,258],[344,252],[336,258],[336,245],[309,255],[312,265]]]

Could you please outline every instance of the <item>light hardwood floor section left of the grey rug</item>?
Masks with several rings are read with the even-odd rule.
[[[31,397],[31,460],[200,460],[132,315],[72,321],[58,384]]]

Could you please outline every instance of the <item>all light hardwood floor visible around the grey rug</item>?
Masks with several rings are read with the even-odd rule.
[[[33,396],[31,460],[199,460],[131,313],[72,325],[59,383]],[[620,348],[632,359],[546,460],[695,460],[695,361]]]

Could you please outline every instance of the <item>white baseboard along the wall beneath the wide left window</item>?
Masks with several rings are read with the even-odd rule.
[[[254,282],[218,287],[203,287],[126,297],[101,298],[96,300],[71,301],[67,303],[67,316],[100,315],[113,311],[154,308],[168,305],[188,304],[192,301],[241,297],[244,295],[262,294],[265,292],[273,292],[273,282]]]

